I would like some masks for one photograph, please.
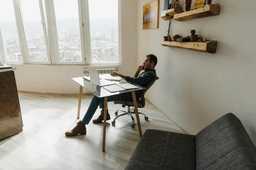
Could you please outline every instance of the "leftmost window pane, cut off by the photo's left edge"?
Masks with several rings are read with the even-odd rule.
[[[4,44],[5,60],[22,62],[12,1],[0,0],[0,28]]]

